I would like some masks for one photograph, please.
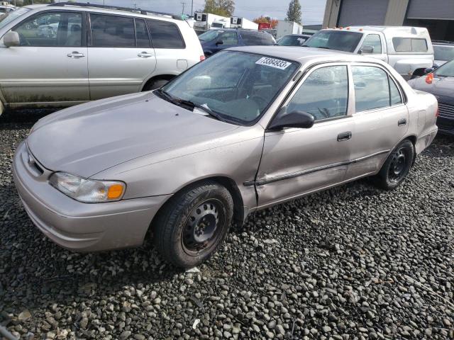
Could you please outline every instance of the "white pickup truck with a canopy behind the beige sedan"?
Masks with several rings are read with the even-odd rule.
[[[326,29],[312,35],[304,45],[383,60],[404,79],[422,76],[433,64],[433,47],[427,28],[350,26]]]

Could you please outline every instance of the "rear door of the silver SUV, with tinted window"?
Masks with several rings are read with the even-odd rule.
[[[89,14],[88,70],[92,100],[140,91],[156,68],[143,18]]]

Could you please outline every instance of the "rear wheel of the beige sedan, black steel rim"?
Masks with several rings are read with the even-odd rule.
[[[389,154],[382,169],[375,176],[375,184],[384,190],[397,188],[409,173],[413,160],[413,143],[410,140],[404,140]]]

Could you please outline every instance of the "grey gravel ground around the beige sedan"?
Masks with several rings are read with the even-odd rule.
[[[16,336],[454,338],[453,138],[397,191],[364,180],[257,212],[184,272],[150,244],[74,254],[33,227],[11,157],[40,115],[0,118],[0,323]]]

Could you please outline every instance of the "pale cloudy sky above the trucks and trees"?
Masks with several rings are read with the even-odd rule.
[[[103,0],[89,0],[92,4],[102,4]],[[104,0],[106,5],[133,6],[167,12],[182,13],[183,2],[184,13],[191,13],[191,1],[194,1],[194,11],[204,8],[204,0]],[[77,0],[77,2],[85,2]],[[243,16],[252,20],[258,16],[270,16],[272,18],[284,19],[287,14],[290,0],[236,0],[235,16]],[[301,4],[303,25],[316,25],[323,22],[326,0],[299,0]]]

